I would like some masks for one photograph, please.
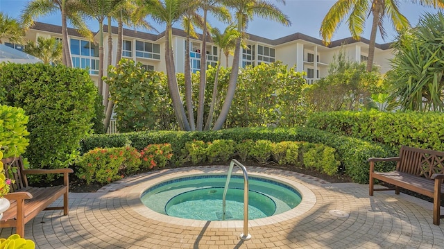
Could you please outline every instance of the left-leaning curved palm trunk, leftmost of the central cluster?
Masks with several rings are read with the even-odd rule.
[[[171,24],[167,25],[165,35],[165,64],[167,68],[167,78],[168,78],[168,88],[171,95],[171,101],[173,102],[174,114],[176,114],[176,119],[178,119],[178,125],[181,130],[191,130],[187,120],[187,115],[185,114],[185,109],[183,108],[182,100],[180,99],[178,80],[176,78],[176,69],[174,68],[174,58],[173,58],[173,46],[171,45],[171,39],[173,36],[173,28]]]

